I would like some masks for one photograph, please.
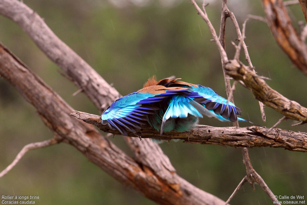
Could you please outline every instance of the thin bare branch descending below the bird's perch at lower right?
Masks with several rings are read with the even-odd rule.
[[[251,165],[251,160],[249,158],[248,150],[247,148],[242,149],[242,154],[243,154],[243,164],[245,165],[246,168],[246,176],[247,176],[247,181],[251,184],[252,188],[255,190],[254,184],[257,183],[264,192],[270,197],[272,201],[277,201],[275,199],[275,195],[273,192],[270,190],[270,188],[266,185],[262,177],[255,171],[253,166]],[[279,204],[279,203],[278,203]]]

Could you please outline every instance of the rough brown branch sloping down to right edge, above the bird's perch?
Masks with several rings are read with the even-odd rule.
[[[307,108],[272,89],[243,63],[231,60],[225,67],[227,74],[236,80],[242,80],[252,90],[258,101],[282,113],[287,118],[307,121]]]

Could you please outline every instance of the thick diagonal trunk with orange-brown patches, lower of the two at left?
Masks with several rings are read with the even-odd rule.
[[[175,172],[163,173],[165,179],[162,179],[153,172],[154,169],[140,165],[100,135],[94,126],[69,116],[72,108],[1,44],[0,75],[37,109],[45,124],[64,142],[76,147],[85,157],[122,184],[138,190],[160,204],[224,203],[216,196],[181,179]],[[155,170],[157,169],[166,172],[165,168],[157,167]],[[166,177],[169,176],[172,178],[168,181]]]

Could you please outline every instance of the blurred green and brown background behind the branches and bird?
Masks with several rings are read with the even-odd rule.
[[[219,29],[221,1],[208,1],[208,15]],[[122,95],[140,89],[152,75],[158,79],[175,75],[183,81],[209,86],[225,97],[220,55],[207,25],[189,1],[98,1],[24,0],[52,31],[76,51]],[[260,1],[228,1],[241,26],[247,14],[264,15]],[[299,4],[290,7],[295,26],[304,20]],[[246,44],[258,75],[271,78],[267,83],[291,100],[307,107],[306,76],[275,43],[266,24],[247,23]],[[235,30],[227,20],[226,48],[234,55],[231,41]],[[77,87],[14,22],[0,16],[0,41],[49,84],[74,109],[99,114],[87,97],[72,96]],[[244,55],[241,56],[244,60]],[[266,108],[261,120],[258,102],[250,91],[238,85],[235,104],[243,118],[271,127],[282,117]],[[0,78],[0,169],[9,165],[22,147],[30,142],[52,138],[35,109]],[[201,124],[231,126],[205,118]],[[307,132],[307,126],[291,127],[292,120],[278,127]],[[240,126],[249,126],[240,123]],[[111,139],[129,152],[124,140]],[[206,192],[223,200],[231,195],[245,176],[240,149],[215,145],[170,142],[161,144],[177,173]],[[250,149],[255,170],[275,195],[307,197],[307,155],[280,148]],[[256,185],[245,184],[231,204],[271,204]],[[138,192],[120,184],[93,165],[74,147],[61,143],[29,151],[6,176],[0,178],[0,195],[36,195],[40,204],[154,204]]]

